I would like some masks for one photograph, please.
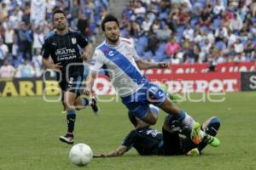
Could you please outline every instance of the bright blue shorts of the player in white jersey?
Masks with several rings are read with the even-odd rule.
[[[167,96],[168,94],[159,85],[147,82],[134,94],[123,97],[122,102],[134,116],[143,118],[148,113],[149,104],[161,105]]]

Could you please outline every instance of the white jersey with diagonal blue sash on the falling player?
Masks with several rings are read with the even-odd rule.
[[[120,37],[116,46],[104,41],[96,48],[90,70],[105,69],[119,96],[125,97],[133,94],[143,86],[143,82],[148,81],[137,67],[138,59],[140,57],[131,42]]]

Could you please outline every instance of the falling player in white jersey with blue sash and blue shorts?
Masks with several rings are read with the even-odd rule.
[[[189,137],[195,144],[201,142],[205,133],[200,124],[195,122],[185,111],[179,109],[166,92],[157,84],[148,81],[140,70],[150,68],[167,68],[167,63],[143,61],[128,39],[119,37],[119,21],[111,14],[102,20],[105,41],[99,45],[92,58],[90,75],[87,78],[84,94],[90,95],[96,79],[96,73],[104,68],[108,72],[123,104],[143,122],[154,124],[157,116],[149,110],[149,104],[160,107],[167,114],[174,116],[183,127],[190,130]]]

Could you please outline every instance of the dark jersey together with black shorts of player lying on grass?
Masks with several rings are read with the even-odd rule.
[[[142,156],[148,155],[183,155],[195,148],[191,139],[180,137],[178,133],[163,133],[150,127],[139,127],[125,137],[123,144],[130,150],[134,147]]]

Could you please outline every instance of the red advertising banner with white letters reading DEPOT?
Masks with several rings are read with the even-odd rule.
[[[241,74],[209,72],[198,74],[148,75],[152,82],[165,83],[172,93],[235,92],[241,89]],[[96,78],[95,90],[98,95],[115,94],[108,77]]]

